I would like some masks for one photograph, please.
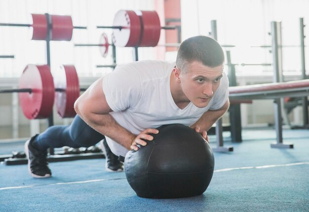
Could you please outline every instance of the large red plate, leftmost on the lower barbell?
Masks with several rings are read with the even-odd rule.
[[[49,66],[28,65],[19,80],[19,88],[32,93],[19,93],[19,102],[28,119],[47,118],[52,113],[55,87]]]

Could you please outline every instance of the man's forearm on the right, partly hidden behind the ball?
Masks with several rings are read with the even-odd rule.
[[[204,133],[207,132],[211,126],[223,116],[223,114],[229,109],[230,102],[227,102],[217,110],[207,110],[204,114],[192,125],[191,128],[195,129],[196,132]],[[203,136],[204,137],[204,136]],[[205,137],[204,137],[205,138]]]

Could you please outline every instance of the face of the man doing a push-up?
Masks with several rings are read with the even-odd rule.
[[[223,65],[210,68],[194,61],[185,69],[179,76],[184,94],[193,105],[207,106],[220,85]]]

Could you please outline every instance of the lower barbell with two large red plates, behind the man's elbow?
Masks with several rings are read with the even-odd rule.
[[[73,65],[63,65],[52,76],[48,65],[29,64],[19,79],[19,89],[4,89],[0,93],[18,92],[19,102],[28,119],[48,118],[55,103],[60,117],[74,117],[74,103],[79,97],[77,71]]]

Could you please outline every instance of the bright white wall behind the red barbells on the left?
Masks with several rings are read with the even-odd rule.
[[[112,30],[96,26],[112,26],[120,9],[154,10],[154,0],[0,0],[0,23],[31,24],[31,13],[71,15],[75,26],[87,30],[73,32],[68,41],[51,41],[51,70],[62,64],[74,64],[79,76],[101,76],[110,69],[96,65],[112,64],[111,51],[102,58],[98,47],[74,47],[74,43],[98,43],[102,32],[111,42]],[[45,41],[30,40],[31,29],[0,27],[0,55],[15,59],[0,60],[0,77],[19,77],[27,64],[46,64]],[[111,48],[110,48],[111,50]],[[139,59],[155,59],[154,48],[140,48]],[[117,63],[132,61],[132,48],[117,48]]]

